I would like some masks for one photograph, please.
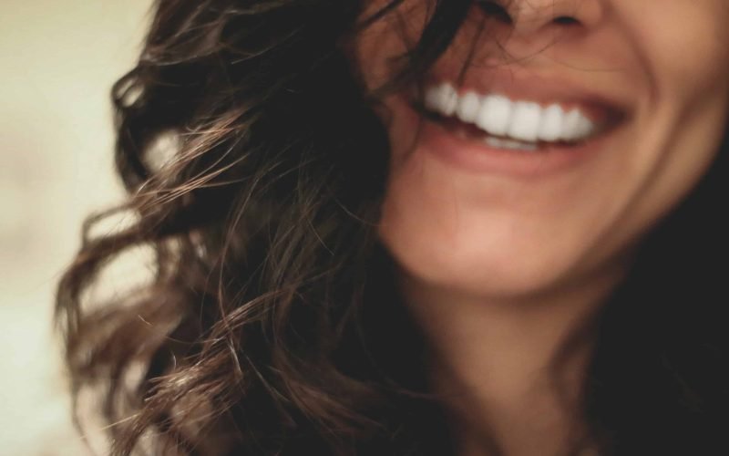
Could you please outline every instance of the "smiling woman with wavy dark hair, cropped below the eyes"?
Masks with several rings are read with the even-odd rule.
[[[158,0],[114,89],[138,217],[59,287],[74,394],[114,454],[726,454],[727,20]]]

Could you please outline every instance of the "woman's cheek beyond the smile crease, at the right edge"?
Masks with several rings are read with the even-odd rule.
[[[644,131],[662,138],[656,141],[659,161],[646,161],[657,171],[636,213],[670,210],[701,179],[724,137],[729,110],[729,2],[658,3],[665,5],[625,0],[623,10],[634,18],[626,28],[641,43],[652,88]]]

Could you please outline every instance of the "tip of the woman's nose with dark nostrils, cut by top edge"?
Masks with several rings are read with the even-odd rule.
[[[546,30],[590,27],[599,23],[603,0],[493,0],[481,2],[484,11],[508,24],[512,38],[529,41]]]

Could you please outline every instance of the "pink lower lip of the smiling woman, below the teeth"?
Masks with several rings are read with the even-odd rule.
[[[444,125],[422,119],[418,144],[438,160],[473,173],[498,174],[521,179],[538,179],[569,171],[606,149],[610,132],[579,144],[542,146],[538,150],[506,150],[485,142],[461,138]]]

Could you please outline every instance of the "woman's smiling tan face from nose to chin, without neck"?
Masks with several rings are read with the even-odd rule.
[[[368,85],[392,75],[428,3],[406,0],[361,38]],[[484,11],[474,5],[425,75],[438,116],[419,126],[412,93],[385,99],[381,238],[416,281],[468,295],[527,296],[613,270],[723,138],[729,2],[519,0],[511,23],[489,19],[478,36]]]

